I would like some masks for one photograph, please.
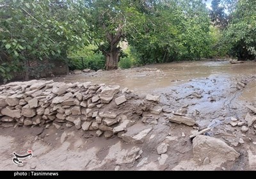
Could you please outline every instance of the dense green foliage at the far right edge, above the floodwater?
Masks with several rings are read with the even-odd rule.
[[[220,48],[238,59],[255,59],[256,3],[238,1],[231,16],[232,20],[223,32]]]

